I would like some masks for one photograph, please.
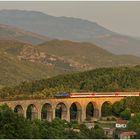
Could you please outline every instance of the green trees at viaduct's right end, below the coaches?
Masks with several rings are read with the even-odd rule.
[[[132,104],[133,103],[133,104]],[[131,118],[131,113],[140,112],[140,98],[124,98],[114,104],[105,102],[102,105],[102,117],[116,116],[125,120]]]

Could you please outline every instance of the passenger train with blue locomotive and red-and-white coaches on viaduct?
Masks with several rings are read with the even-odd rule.
[[[54,95],[55,98],[96,98],[129,96],[140,96],[140,92],[60,92]]]

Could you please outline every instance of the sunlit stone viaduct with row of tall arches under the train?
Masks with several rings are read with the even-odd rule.
[[[88,104],[92,104],[94,112],[92,118],[101,117],[101,108],[105,102],[113,104],[120,101],[123,97],[93,97],[93,98],[52,98],[52,99],[32,99],[32,100],[16,100],[1,101],[0,105],[7,104],[18,114],[22,114],[27,118],[27,110],[31,108],[31,119],[47,119],[52,121],[56,117],[56,109],[61,108],[61,119],[71,120],[70,108],[72,105],[76,107],[76,120],[80,123],[86,120],[86,110]],[[47,112],[46,116],[42,114],[42,108]]]

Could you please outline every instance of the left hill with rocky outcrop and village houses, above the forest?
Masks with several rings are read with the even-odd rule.
[[[0,86],[25,80],[52,77],[73,71],[69,63],[40,53],[34,46],[12,40],[0,40]]]

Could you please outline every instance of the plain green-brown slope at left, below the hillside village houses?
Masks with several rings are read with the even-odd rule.
[[[36,80],[66,73],[62,67],[51,67],[42,63],[19,61],[0,53],[0,85],[13,86],[22,81]]]

